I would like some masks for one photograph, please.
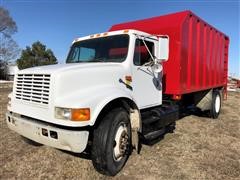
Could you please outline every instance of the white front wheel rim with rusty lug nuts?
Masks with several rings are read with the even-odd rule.
[[[113,156],[116,161],[120,161],[127,152],[128,148],[128,131],[125,125],[120,125],[117,129],[114,146]]]

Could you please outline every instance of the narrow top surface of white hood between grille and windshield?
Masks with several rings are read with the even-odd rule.
[[[120,63],[71,63],[71,64],[56,64],[47,66],[38,66],[19,71],[19,74],[55,74],[66,71],[74,71],[80,69],[100,68],[119,66]]]

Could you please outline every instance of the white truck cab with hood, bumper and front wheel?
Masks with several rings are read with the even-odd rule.
[[[168,49],[168,36],[131,29],[77,38],[66,64],[18,72],[8,127],[76,153],[90,145],[94,167],[115,175],[138,149],[141,111],[162,105]]]

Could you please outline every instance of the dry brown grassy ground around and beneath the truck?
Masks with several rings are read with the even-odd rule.
[[[6,111],[9,89],[0,89]],[[240,179],[240,93],[229,93],[218,120],[188,116],[173,134],[132,154],[116,179]],[[34,147],[0,119],[0,179],[111,179],[91,160],[47,146]]]

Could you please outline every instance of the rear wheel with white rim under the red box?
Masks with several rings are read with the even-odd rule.
[[[221,106],[222,106],[222,99],[220,92],[218,90],[213,91],[212,95],[212,103],[211,103],[211,109],[210,109],[210,117],[213,119],[217,119],[220,112],[221,112]]]

